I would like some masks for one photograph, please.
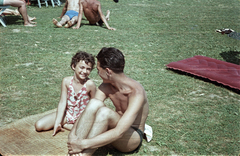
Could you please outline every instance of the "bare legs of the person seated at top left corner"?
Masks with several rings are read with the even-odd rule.
[[[36,19],[30,19],[30,17],[27,14],[27,8],[26,8],[26,2],[25,0],[0,0],[0,5],[10,5],[13,7],[18,7],[19,13],[22,15],[22,18],[24,20],[24,26],[29,27],[35,27],[36,22],[33,22],[32,20]]]

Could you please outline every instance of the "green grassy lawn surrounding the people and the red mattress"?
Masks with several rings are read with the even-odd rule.
[[[238,90],[166,69],[166,64],[203,55],[239,63],[240,41],[215,33],[240,32],[240,0],[100,0],[109,25],[78,30],[55,28],[61,7],[28,6],[37,27],[7,16],[0,26],[0,126],[57,107],[61,80],[73,74],[71,57],[78,51],[96,55],[115,47],[126,56],[126,74],[147,91],[153,127],[150,143],[135,155],[238,155]],[[14,8],[13,8],[14,9]],[[94,69],[96,85],[101,78]],[[110,103],[108,102],[110,105]]]

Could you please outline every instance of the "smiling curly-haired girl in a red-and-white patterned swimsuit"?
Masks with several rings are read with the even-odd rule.
[[[86,52],[77,52],[71,62],[73,76],[62,80],[61,97],[57,111],[48,114],[35,123],[36,131],[46,131],[53,128],[53,136],[63,131],[63,126],[74,124],[84,111],[89,100],[94,98],[96,86],[88,78],[95,65],[94,57]],[[69,128],[69,127],[68,127]],[[71,129],[71,128],[70,128]]]

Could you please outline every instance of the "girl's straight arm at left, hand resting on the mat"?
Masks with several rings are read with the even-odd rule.
[[[53,129],[53,136],[57,134],[59,130],[62,130],[62,123],[64,121],[64,114],[67,106],[67,86],[70,80],[68,77],[62,80],[62,88],[61,88],[61,97],[58,103],[56,120]]]

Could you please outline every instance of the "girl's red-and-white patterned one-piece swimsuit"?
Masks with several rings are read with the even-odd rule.
[[[74,124],[79,115],[84,111],[88,102],[89,95],[87,93],[86,82],[82,89],[76,94],[73,89],[73,78],[69,84],[68,97],[67,97],[67,110],[66,119],[67,123]]]

